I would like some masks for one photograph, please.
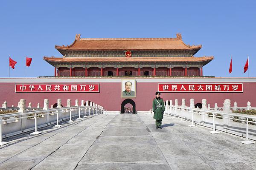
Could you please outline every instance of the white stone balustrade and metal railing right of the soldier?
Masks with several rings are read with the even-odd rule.
[[[233,110],[232,110],[233,109]],[[224,101],[224,106],[219,109],[217,103],[215,108],[207,107],[207,100],[202,99],[202,108],[195,108],[194,99],[190,99],[190,106],[185,105],[185,99],[182,99],[182,105],[178,105],[177,99],[175,99],[175,105],[172,104],[172,100],[166,101],[165,115],[173,116],[173,119],[180,118],[179,122],[190,121],[192,122],[190,127],[196,127],[196,125],[202,125],[210,127],[213,130],[209,133],[219,133],[216,130],[232,133],[238,136],[245,137],[246,140],[241,141],[244,144],[253,144],[255,142],[249,139],[256,140],[256,116],[232,113],[237,110],[256,110],[250,106],[250,102],[247,102],[247,107],[237,107],[237,103],[234,103],[234,107],[230,107],[230,99]]]

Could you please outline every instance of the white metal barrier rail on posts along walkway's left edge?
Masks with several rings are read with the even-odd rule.
[[[86,116],[86,110],[89,109],[89,116],[90,115],[90,109],[97,109],[96,111],[98,111],[99,114],[104,114],[105,113],[105,109],[103,109],[103,107],[96,107],[96,106],[73,106],[73,107],[64,107],[64,108],[54,108],[54,109],[49,109],[49,110],[39,110],[39,111],[29,111],[29,112],[26,112],[26,113],[20,113],[20,112],[17,112],[17,113],[6,113],[6,114],[2,114],[0,115],[0,145],[4,145],[4,144],[8,144],[8,142],[3,142],[2,141],[2,125],[3,123],[6,121],[13,121],[13,122],[19,122],[19,120],[22,120],[22,119],[35,119],[35,131],[33,133],[30,133],[31,135],[38,135],[42,132],[38,131],[38,122],[37,122],[37,119],[38,119],[38,116],[40,117],[43,117],[43,116],[46,116],[46,115],[52,115],[52,114],[56,114],[56,120],[52,121],[52,122],[55,122],[56,121],[56,125],[54,127],[61,127],[61,125],[59,125],[59,117],[61,115],[61,113],[65,113],[65,112],[70,112],[70,120],[68,122],[74,122],[72,120],[72,111],[78,111],[79,113],[79,117],[77,119],[81,120],[82,118],[80,117],[81,116],[81,110],[84,110],[84,117],[87,117]],[[98,114],[96,112],[96,114]],[[21,124],[22,126],[22,124]]]

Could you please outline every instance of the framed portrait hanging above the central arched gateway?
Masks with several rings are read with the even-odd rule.
[[[122,85],[121,85],[121,97],[122,98],[136,98],[136,79],[122,79],[121,82],[122,82]],[[129,94],[126,91],[126,88],[129,89],[129,87],[125,88],[125,83],[126,82],[131,82],[132,83],[131,91],[129,91]]]

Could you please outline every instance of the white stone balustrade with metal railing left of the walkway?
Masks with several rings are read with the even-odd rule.
[[[35,130],[32,135],[40,134],[38,127],[45,127],[56,124],[54,127],[61,127],[59,122],[69,119],[68,122],[74,122],[72,118],[81,116],[87,117],[92,115],[104,114],[105,109],[101,105],[89,105],[89,101],[82,101],[81,106],[76,102],[76,106],[71,106],[71,100],[68,99],[67,107],[61,107],[61,99],[58,99],[57,108],[49,108],[49,100],[44,99],[44,108],[41,110],[31,111],[25,108],[26,100],[20,99],[19,110],[17,113],[0,114],[0,145],[7,144],[2,139],[14,136],[20,133]],[[93,102],[90,102],[93,103]],[[38,108],[40,109],[40,108]]]

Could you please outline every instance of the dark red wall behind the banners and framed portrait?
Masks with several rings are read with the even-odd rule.
[[[81,79],[81,81],[86,82],[86,79]],[[157,91],[157,84],[165,82],[161,79],[159,82],[138,82],[136,98],[132,98],[136,103],[137,111],[149,111],[151,109],[152,100],[155,97],[155,92]],[[53,83],[52,80],[49,83]],[[119,111],[120,105],[125,98],[121,98],[121,81],[111,82],[101,82],[101,79],[94,79],[93,82],[100,84],[100,93],[15,93],[15,83],[23,83],[21,81],[17,82],[0,82],[0,105],[6,100],[7,105],[11,107],[17,104],[20,99],[26,99],[26,106],[29,102],[32,102],[32,107],[37,107],[37,103],[43,107],[44,99],[49,99],[49,106],[57,102],[57,99],[62,99],[62,105],[67,105],[67,99],[71,99],[71,104],[75,105],[75,99],[79,99],[79,105],[81,105],[81,100],[84,102],[86,100],[93,101],[98,105],[102,105],[108,111]],[[33,81],[32,83],[42,83],[41,81]],[[54,82],[58,83],[58,82]],[[60,82],[61,83],[61,82]],[[70,82],[69,82],[70,83]],[[74,82],[77,83],[77,82]],[[197,82],[200,83],[200,82]],[[232,83],[232,82],[229,82]],[[239,82],[240,83],[240,82]],[[186,105],[190,105],[190,99],[195,99],[195,104],[201,102],[201,99],[207,99],[211,107],[214,107],[215,102],[217,102],[219,107],[223,106],[224,99],[231,99],[231,105],[236,101],[239,107],[246,107],[247,102],[250,101],[252,107],[255,107],[256,102],[256,82],[242,82],[243,90],[242,93],[162,93],[161,97],[166,100],[178,99],[179,105],[181,105],[181,99],[186,99]]]

